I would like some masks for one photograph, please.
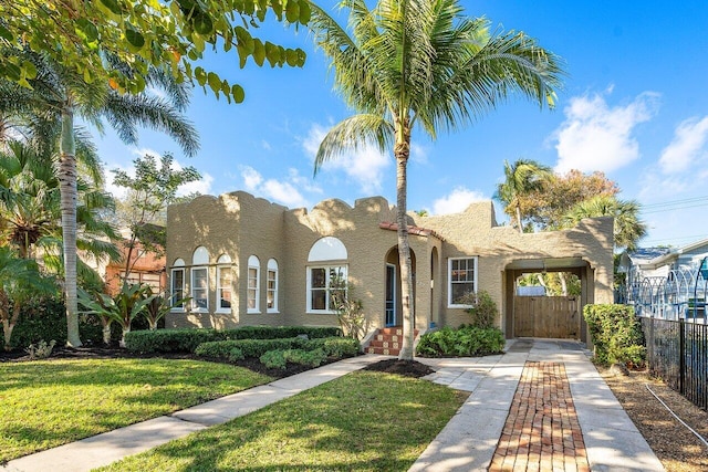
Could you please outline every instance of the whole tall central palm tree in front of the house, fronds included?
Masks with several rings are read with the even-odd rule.
[[[356,114],[320,144],[315,174],[345,150],[393,148],[404,342],[413,359],[413,276],[406,214],[406,167],[418,125],[431,138],[475,122],[511,93],[553,106],[562,74],[558,56],[523,33],[489,33],[485,19],[462,15],[458,0],[342,0],[348,29],[312,4],[310,29],[331,60],[336,88]]]

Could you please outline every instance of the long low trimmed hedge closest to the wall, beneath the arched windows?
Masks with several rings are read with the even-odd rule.
[[[339,336],[339,327],[244,326],[233,329],[158,329],[131,332],[125,346],[135,353],[194,353],[202,343],[237,339],[282,339],[306,335],[309,338]]]

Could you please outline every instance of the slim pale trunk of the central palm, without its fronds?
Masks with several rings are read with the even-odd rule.
[[[403,344],[398,358],[413,360],[414,343],[414,291],[410,244],[408,242],[408,217],[406,214],[406,167],[410,154],[410,130],[404,128],[403,140],[396,144],[396,222],[398,224],[398,264],[400,265],[400,296],[403,305]]]

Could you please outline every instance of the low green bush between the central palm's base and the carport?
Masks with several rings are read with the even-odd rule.
[[[441,329],[420,336],[416,354],[423,357],[485,356],[501,353],[504,335],[498,328],[460,326]]]

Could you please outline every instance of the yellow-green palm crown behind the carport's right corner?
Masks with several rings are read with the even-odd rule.
[[[573,227],[583,218],[614,217],[615,248],[633,251],[646,235],[647,225],[639,219],[639,203],[620,200],[614,196],[596,196],[581,201],[563,219],[564,227]]]

